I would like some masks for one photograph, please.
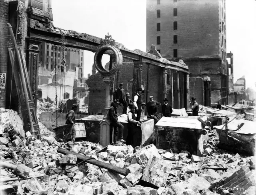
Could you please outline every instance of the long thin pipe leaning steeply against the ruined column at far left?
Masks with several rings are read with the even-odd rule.
[[[12,26],[9,23],[7,23],[7,26],[8,26],[8,29],[9,29],[10,36],[12,38],[12,42],[14,43],[15,53],[16,53],[16,56],[18,58],[18,66],[20,68],[20,71],[22,71],[22,62],[21,62],[21,59],[20,59],[17,43],[16,43],[13,31],[12,31]],[[15,58],[15,56],[14,56],[14,58]],[[29,123],[30,123],[30,131],[31,131],[31,134],[34,135],[34,133],[35,133],[34,132],[34,126],[33,126],[33,121],[32,121],[32,117],[31,117],[30,107],[29,107],[29,103],[28,103],[28,91],[27,91],[27,88],[26,88],[25,77],[24,77],[24,74],[22,72],[20,72],[20,77],[21,77],[22,85],[24,86],[25,104],[26,104],[26,108],[27,108],[27,111],[28,111],[28,119],[29,119]]]

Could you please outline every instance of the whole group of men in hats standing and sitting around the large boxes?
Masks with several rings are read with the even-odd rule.
[[[147,105],[147,112],[149,118],[154,118],[158,113],[158,107],[161,106],[161,103],[154,100],[153,96],[150,96],[150,101],[146,103],[142,102],[142,88],[138,88],[136,91],[136,95],[134,96],[134,100],[130,99],[130,94],[125,93],[124,91],[124,84],[120,83],[119,88],[114,92],[114,101],[111,103],[111,107],[108,111],[108,115],[110,117],[110,121],[114,127],[114,142],[118,140],[118,133],[119,133],[119,141],[126,142],[124,140],[124,125],[120,123],[118,120],[118,113],[117,108],[119,105],[123,108],[123,114],[127,114],[128,118],[128,137],[127,137],[127,144],[133,145],[133,135],[135,126],[140,123],[140,117],[145,115],[145,107]],[[198,116],[199,105],[196,102],[196,98],[192,97],[192,113],[193,116]],[[75,114],[77,105],[73,104],[72,110],[70,110],[67,114],[66,124],[70,126],[71,138],[72,141],[76,139],[76,129],[74,127],[75,121]],[[128,109],[129,108],[129,109]],[[135,113],[137,116],[135,116]],[[172,114],[172,106],[168,103],[168,99],[164,99],[164,104],[162,105],[162,115],[164,117],[171,117]],[[119,129],[119,132],[118,132]]]

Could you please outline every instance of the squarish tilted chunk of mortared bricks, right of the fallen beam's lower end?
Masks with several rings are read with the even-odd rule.
[[[172,163],[153,156],[144,169],[142,180],[162,187],[166,184],[171,167],[173,167]]]

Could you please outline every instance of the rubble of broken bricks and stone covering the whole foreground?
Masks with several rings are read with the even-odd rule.
[[[218,148],[198,157],[188,151],[156,149],[153,144],[139,149],[117,143],[102,149],[87,141],[60,143],[52,136],[22,141],[3,133],[0,190],[17,195],[253,195],[256,191],[253,157]]]

